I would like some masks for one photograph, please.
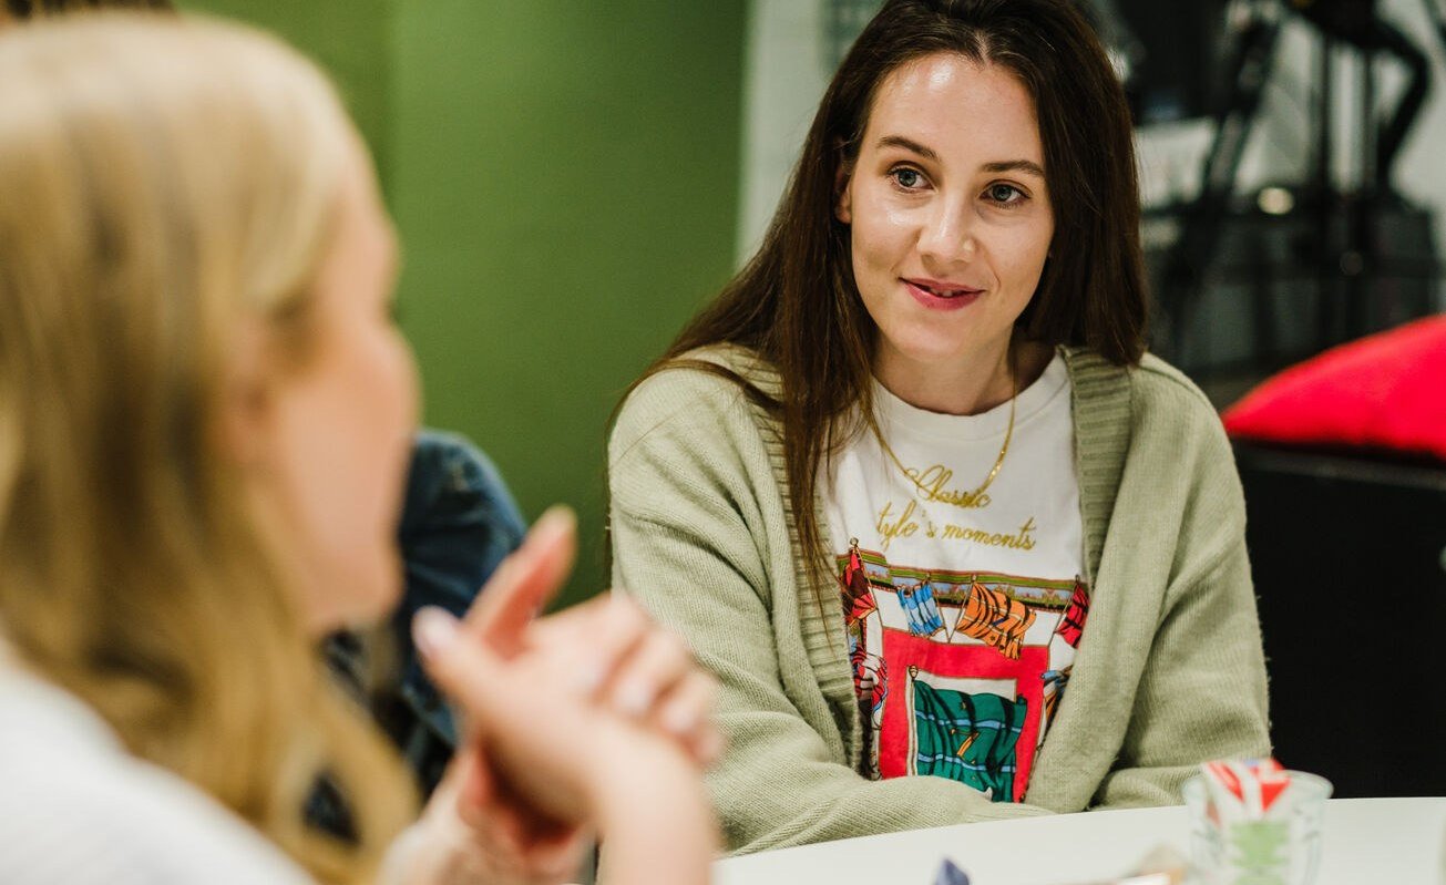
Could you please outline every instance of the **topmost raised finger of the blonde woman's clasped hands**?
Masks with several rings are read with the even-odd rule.
[[[567,580],[576,557],[577,518],[567,508],[548,509],[477,594],[464,622],[467,635],[503,658],[516,655],[528,623]]]

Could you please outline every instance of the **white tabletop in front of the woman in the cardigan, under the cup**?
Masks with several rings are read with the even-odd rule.
[[[1326,803],[1316,885],[1446,885],[1446,798]],[[1160,843],[1189,856],[1183,807],[1056,814],[865,836],[713,865],[714,885],[930,885],[943,858],[972,885],[1070,885],[1119,876]]]

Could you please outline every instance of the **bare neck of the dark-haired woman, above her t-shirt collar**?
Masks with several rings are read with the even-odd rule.
[[[1012,354],[1011,354],[1012,350]],[[873,377],[914,408],[943,415],[977,415],[1009,402],[1034,383],[1054,351],[1037,341],[1017,341],[949,366],[910,360],[881,349]]]

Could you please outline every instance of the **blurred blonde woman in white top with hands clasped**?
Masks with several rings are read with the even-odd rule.
[[[547,882],[589,826],[629,882],[706,878],[707,681],[628,606],[526,625],[565,516],[466,626],[419,619],[467,736],[398,837],[315,639],[395,603],[415,373],[309,64],[174,17],[9,32],[0,194],[0,881]],[[318,781],[350,839],[307,826]]]

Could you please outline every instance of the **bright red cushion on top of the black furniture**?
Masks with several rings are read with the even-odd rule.
[[[1446,317],[1291,366],[1226,409],[1236,438],[1430,454],[1446,461]]]

